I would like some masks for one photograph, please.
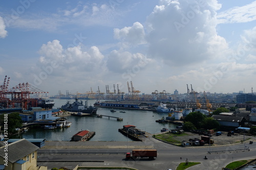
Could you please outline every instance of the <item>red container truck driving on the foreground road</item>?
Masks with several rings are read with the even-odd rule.
[[[126,159],[136,159],[137,157],[154,159],[157,157],[157,150],[133,150],[132,155],[130,152],[126,153]]]

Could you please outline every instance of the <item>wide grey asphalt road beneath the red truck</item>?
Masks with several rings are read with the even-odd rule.
[[[208,151],[229,151],[250,149],[246,152],[207,154]],[[132,149],[154,148],[158,156],[154,160],[146,158],[125,160],[125,153]],[[201,164],[190,167],[189,170],[198,169],[221,169],[228,163],[237,160],[253,159],[255,157],[256,144],[246,143],[227,145],[223,147],[177,147],[148,137],[143,142],[120,142],[120,141],[87,141],[87,142],[47,142],[46,147],[38,150],[38,165],[52,167],[67,166],[73,168],[79,166],[127,166],[140,170],[143,169],[176,169],[179,163],[187,159]],[[208,160],[204,160],[207,155]]]

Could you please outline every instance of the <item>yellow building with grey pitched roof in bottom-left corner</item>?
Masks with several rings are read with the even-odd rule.
[[[0,162],[5,165],[5,170],[36,170],[38,149],[26,139],[6,143],[0,148]]]

